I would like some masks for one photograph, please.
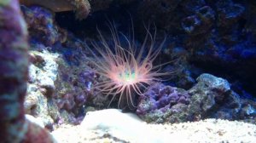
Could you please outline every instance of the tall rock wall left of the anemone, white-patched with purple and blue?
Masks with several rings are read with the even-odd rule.
[[[51,129],[55,123],[79,123],[84,106],[107,104],[108,99],[92,96],[96,75],[84,62],[85,44],[57,26],[49,10],[21,8],[31,36],[26,113]]]

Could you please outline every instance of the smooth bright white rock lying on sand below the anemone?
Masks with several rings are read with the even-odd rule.
[[[113,137],[131,142],[161,143],[169,142],[157,132],[149,129],[135,114],[122,113],[117,109],[107,109],[97,112],[88,112],[81,123],[84,130],[102,131]]]

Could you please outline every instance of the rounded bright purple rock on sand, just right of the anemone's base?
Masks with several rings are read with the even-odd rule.
[[[168,122],[172,114],[183,114],[189,99],[190,95],[183,89],[155,84],[140,96],[137,115],[147,122]]]

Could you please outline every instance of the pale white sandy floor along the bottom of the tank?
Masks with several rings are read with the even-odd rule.
[[[111,114],[109,114],[110,117]],[[122,115],[123,116],[123,115]],[[130,119],[132,122],[130,123]],[[86,142],[239,142],[256,143],[256,125],[227,120],[207,119],[195,123],[147,124],[136,122],[134,117],[121,118],[124,126],[112,124],[112,120],[102,117],[91,118],[93,123],[79,126],[63,125],[52,134],[61,143]]]

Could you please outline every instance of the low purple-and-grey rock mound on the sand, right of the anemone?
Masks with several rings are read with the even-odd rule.
[[[182,123],[206,118],[255,123],[256,105],[230,89],[227,80],[201,74],[189,90],[151,86],[139,99],[137,115],[148,123]]]

